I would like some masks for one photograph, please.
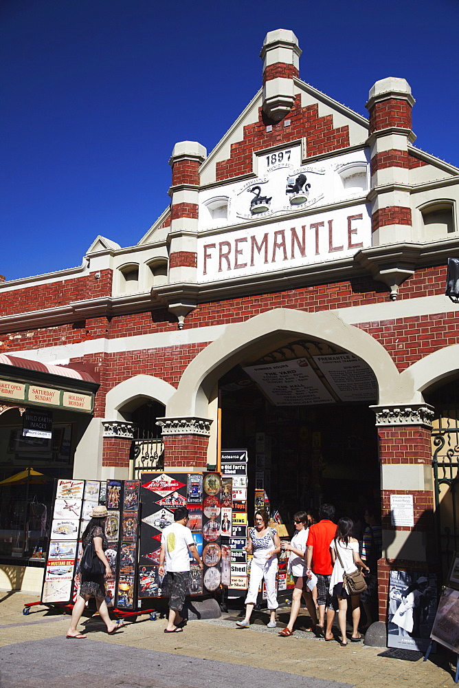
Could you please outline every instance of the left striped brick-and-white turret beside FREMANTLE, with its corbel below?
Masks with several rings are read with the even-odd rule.
[[[169,164],[172,167],[170,204],[169,283],[197,282],[197,235],[199,216],[199,167],[207,156],[201,144],[194,141],[176,143]],[[186,299],[170,303],[169,310],[183,327],[185,316],[196,307]]]

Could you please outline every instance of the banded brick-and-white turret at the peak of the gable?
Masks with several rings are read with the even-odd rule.
[[[287,29],[266,34],[260,58],[263,61],[263,111],[274,122],[289,114],[295,103],[293,78],[299,74],[301,50],[298,39]]]

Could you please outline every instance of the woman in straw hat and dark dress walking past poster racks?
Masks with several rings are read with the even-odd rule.
[[[82,535],[83,555],[80,561],[80,594],[71,612],[71,622],[67,631],[67,638],[82,640],[87,636],[78,632],[77,626],[85,605],[90,597],[96,598],[96,607],[100,618],[107,626],[108,633],[114,633],[121,628],[122,621],[111,621],[107,602],[105,601],[104,579],[111,577],[110,564],[104,552],[109,548],[105,537],[105,522],[109,512],[105,506],[95,506],[91,513],[91,520]],[[86,570],[85,570],[86,569]],[[91,569],[91,570],[89,570]]]

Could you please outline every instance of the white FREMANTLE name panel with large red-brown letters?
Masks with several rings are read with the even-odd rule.
[[[199,281],[208,282],[352,257],[371,246],[368,206],[266,223],[199,239]]]

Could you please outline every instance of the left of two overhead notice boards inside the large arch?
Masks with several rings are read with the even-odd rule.
[[[330,404],[335,399],[306,358],[244,368],[275,406]]]

